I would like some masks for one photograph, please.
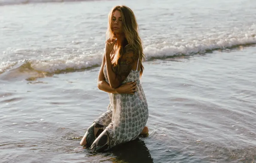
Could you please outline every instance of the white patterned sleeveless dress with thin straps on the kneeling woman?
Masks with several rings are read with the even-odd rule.
[[[136,71],[131,69],[127,78],[122,82],[124,84],[136,81],[137,88],[134,94],[108,93],[110,103],[107,106],[107,112],[94,121],[94,124],[101,126],[103,131],[98,137],[96,136],[96,140],[91,141],[91,149],[95,151],[107,150],[121,143],[134,140],[146,126],[149,116],[148,105],[140,84],[140,71],[137,69]],[[104,66],[104,76],[106,82],[109,83],[106,64]],[[107,143],[106,141],[101,141],[104,137],[107,139]]]

